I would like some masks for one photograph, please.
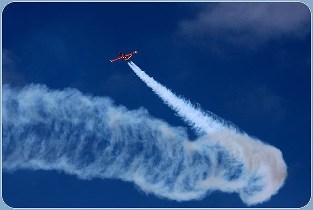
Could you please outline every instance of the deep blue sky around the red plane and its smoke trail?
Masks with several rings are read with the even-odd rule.
[[[2,12],[2,84],[45,84],[108,96],[196,133],[117,53],[160,84],[281,150],[282,189],[257,208],[300,208],[311,197],[311,16],[303,3],[14,2]],[[3,151],[2,151],[3,152]],[[177,202],[119,179],[55,170],[2,171],[15,208],[246,208],[214,191]]]

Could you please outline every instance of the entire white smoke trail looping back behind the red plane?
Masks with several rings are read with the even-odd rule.
[[[246,205],[268,200],[284,183],[281,152],[237,132],[136,74],[199,133],[188,139],[144,108],[128,110],[107,97],[43,84],[2,85],[2,169],[60,170],[81,179],[118,178],[147,194],[186,201],[213,190],[237,192]]]

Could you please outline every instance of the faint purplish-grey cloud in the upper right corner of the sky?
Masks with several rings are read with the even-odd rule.
[[[182,40],[204,47],[236,45],[252,49],[282,37],[301,39],[311,30],[310,9],[300,2],[202,5],[206,6],[196,18],[179,22],[177,34]]]

